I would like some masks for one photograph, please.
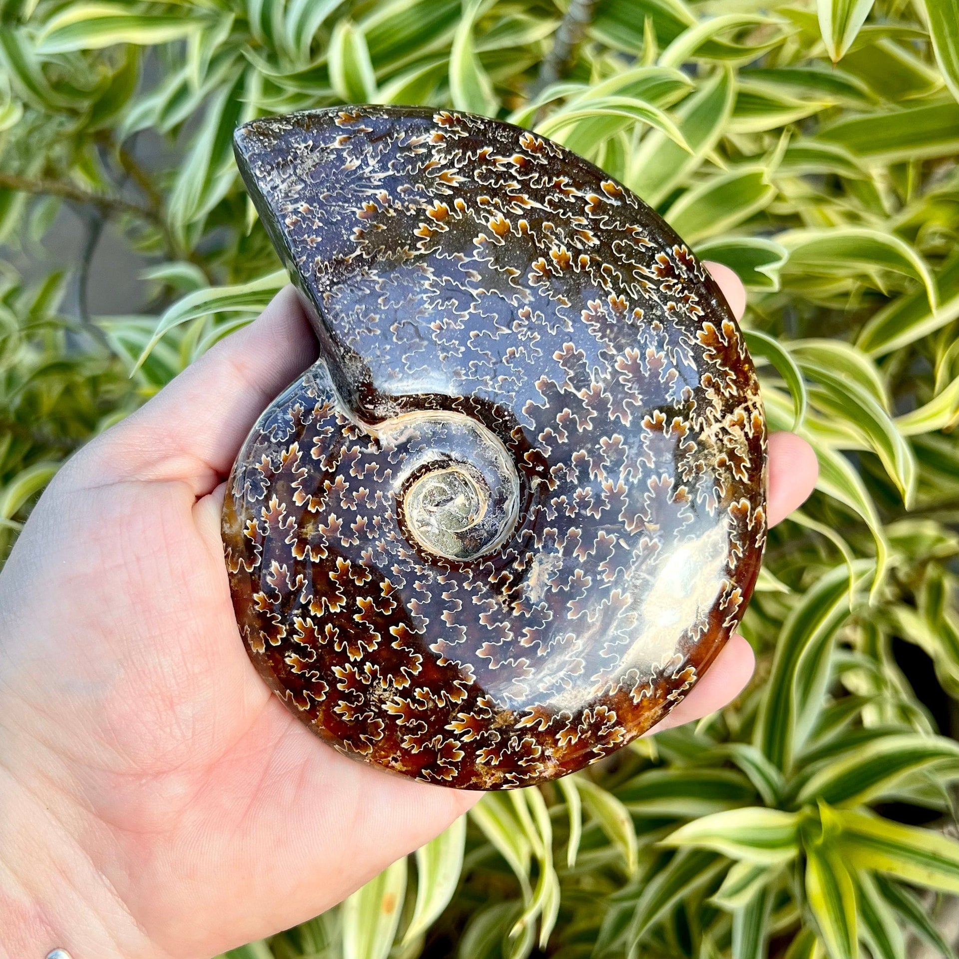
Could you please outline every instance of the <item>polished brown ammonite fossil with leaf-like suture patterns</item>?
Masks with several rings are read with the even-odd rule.
[[[246,124],[319,340],[223,510],[269,686],[339,751],[508,788],[661,719],[742,617],[765,424],[712,278],[590,163],[469,114]]]

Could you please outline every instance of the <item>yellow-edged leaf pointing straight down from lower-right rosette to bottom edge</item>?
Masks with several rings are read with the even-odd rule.
[[[829,843],[806,849],[806,900],[830,959],[859,954],[855,886],[842,855]]]

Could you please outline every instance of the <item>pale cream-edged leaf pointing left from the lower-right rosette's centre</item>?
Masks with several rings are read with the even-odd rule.
[[[662,840],[664,846],[698,846],[731,859],[775,865],[799,852],[804,813],[745,807],[703,816]]]

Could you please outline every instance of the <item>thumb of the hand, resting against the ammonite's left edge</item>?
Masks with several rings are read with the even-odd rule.
[[[142,409],[98,437],[82,465],[97,483],[186,480],[212,490],[229,472],[260,413],[316,359],[316,337],[292,287],[263,314],[165,386]]]

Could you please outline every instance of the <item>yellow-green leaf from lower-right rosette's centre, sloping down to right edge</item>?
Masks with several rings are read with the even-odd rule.
[[[858,869],[943,892],[959,892],[959,842],[942,832],[921,830],[861,812],[837,809],[843,857]]]

